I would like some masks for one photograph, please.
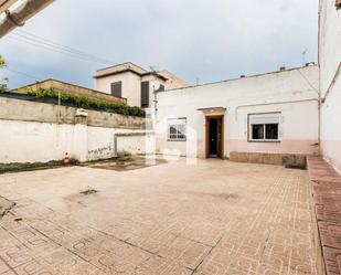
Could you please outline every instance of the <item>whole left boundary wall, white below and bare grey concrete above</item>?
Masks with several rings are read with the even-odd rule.
[[[81,114],[83,114],[81,112]],[[46,162],[68,152],[81,161],[110,158],[114,135],[141,133],[145,119],[0,97],[0,163]],[[143,154],[146,137],[118,139],[118,152]]]

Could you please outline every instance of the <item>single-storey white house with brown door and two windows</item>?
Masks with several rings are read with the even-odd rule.
[[[158,92],[157,151],[200,158],[319,151],[319,67]]]

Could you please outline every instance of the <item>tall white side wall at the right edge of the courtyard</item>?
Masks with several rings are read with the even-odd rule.
[[[321,152],[341,171],[341,9],[320,0]]]

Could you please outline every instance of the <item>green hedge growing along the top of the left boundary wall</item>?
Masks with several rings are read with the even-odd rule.
[[[38,98],[58,98],[58,92],[54,88],[36,88],[26,89],[28,95]],[[143,117],[145,110],[139,107],[130,107],[122,103],[110,103],[103,99],[93,99],[84,95],[74,93],[62,92],[61,102],[71,103],[79,108],[98,108],[114,114],[120,114],[126,116]]]

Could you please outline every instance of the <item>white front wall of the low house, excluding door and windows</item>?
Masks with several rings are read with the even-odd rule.
[[[318,151],[318,66],[288,70],[158,93],[158,152],[185,155],[185,141],[167,141],[167,119],[187,117],[205,156],[205,116],[199,108],[225,107],[224,156],[232,151],[313,154]],[[307,81],[308,80],[308,81]],[[313,86],[313,88],[311,87]],[[281,113],[280,142],[248,142],[248,114]]]

